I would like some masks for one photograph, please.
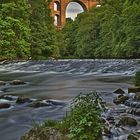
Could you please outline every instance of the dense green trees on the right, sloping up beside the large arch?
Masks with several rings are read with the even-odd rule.
[[[63,33],[65,55],[78,58],[139,58],[140,1],[103,0]]]

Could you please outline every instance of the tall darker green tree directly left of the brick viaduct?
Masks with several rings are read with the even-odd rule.
[[[50,17],[49,2],[46,0],[31,1],[31,55],[33,59],[58,57],[59,50],[55,44],[56,31]]]

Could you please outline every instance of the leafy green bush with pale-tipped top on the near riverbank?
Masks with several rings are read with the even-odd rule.
[[[71,140],[101,140],[101,100],[97,93],[79,95],[66,118]]]

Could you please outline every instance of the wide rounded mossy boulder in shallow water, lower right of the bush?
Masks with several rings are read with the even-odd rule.
[[[138,123],[134,118],[131,117],[122,117],[119,120],[118,126],[122,125],[122,126],[136,126]]]

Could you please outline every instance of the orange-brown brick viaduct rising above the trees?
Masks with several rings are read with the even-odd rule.
[[[59,27],[63,27],[66,23],[66,8],[70,2],[77,2],[79,3],[84,11],[89,10],[92,7],[95,7],[98,2],[96,0],[51,0],[50,2],[50,10],[51,16],[54,17],[55,15],[59,16]],[[54,10],[54,3],[59,3],[60,7],[57,11]]]

